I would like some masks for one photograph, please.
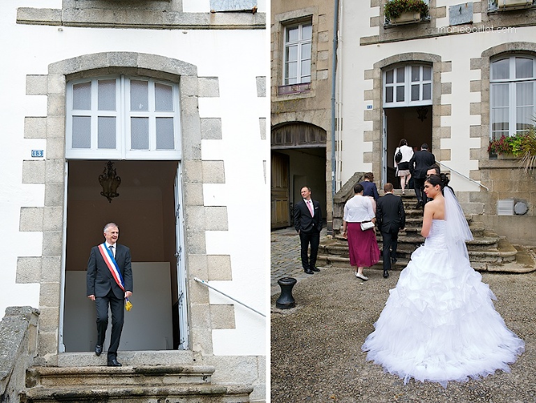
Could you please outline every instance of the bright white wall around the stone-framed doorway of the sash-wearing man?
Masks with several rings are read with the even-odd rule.
[[[197,1],[184,1],[195,8]],[[203,2],[200,2],[203,3]],[[257,96],[256,77],[269,72],[267,33],[246,30],[89,29],[16,24],[17,7],[61,8],[61,1],[2,1],[0,41],[0,312],[13,305],[38,307],[39,284],[16,284],[17,256],[41,256],[42,233],[20,232],[21,207],[44,205],[43,184],[22,184],[22,161],[45,140],[24,139],[24,117],[46,116],[46,96],[26,95],[27,75],[46,75],[51,63],[96,52],[145,52],[198,66],[218,77],[219,98],[200,99],[201,117],[221,117],[223,139],[204,142],[202,158],[223,160],[225,184],[205,185],[206,205],[228,207],[229,230],[207,234],[208,254],[229,254],[232,281],[215,284],[234,298],[267,311],[269,270],[269,144],[259,118],[269,97]],[[189,11],[193,11],[188,9]],[[260,8],[261,10],[261,8]],[[206,12],[206,9],[197,10]],[[267,84],[267,88],[269,85]],[[45,156],[46,157],[46,156]],[[246,223],[246,225],[244,225]],[[211,295],[211,303],[229,304]],[[264,355],[265,318],[236,308],[236,329],[214,331],[216,355]],[[253,330],[252,330],[253,329]]]

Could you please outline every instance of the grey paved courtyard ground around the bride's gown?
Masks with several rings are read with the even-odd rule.
[[[404,385],[360,350],[399,270],[383,279],[381,270],[365,269],[368,281],[349,268],[320,270],[304,274],[293,228],[271,233],[271,403],[536,403],[536,272],[482,274],[506,325],[526,342],[512,372],[442,388],[414,380]],[[281,277],[298,280],[295,308],[275,307]]]

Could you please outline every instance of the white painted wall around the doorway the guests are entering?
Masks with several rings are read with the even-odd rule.
[[[372,80],[364,80],[364,71],[371,70],[377,61],[406,52],[439,54],[442,61],[452,61],[452,72],[442,73],[441,77],[442,82],[452,82],[452,94],[441,97],[441,104],[452,105],[452,115],[442,117],[441,120],[442,126],[451,127],[452,138],[442,138],[440,144],[441,148],[452,149],[452,159],[441,162],[469,177],[470,170],[478,169],[478,161],[470,159],[469,150],[480,147],[480,139],[470,138],[469,135],[470,126],[480,124],[479,115],[470,115],[470,103],[480,100],[479,93],[470,92],[470,81],[480,78],[480,71],[470,70],[470,59],[481,57],[484,50],[501,43],[533,42],[536,35],[535,27],[515,28],[513,31],[481,29],[471,34],[359,45],[359,40],[354,38],[379,34],[379,27],[370,27],[370,19],[380,15],[381,23],[383,23],[383,9],[371,8],[368,3],[364,4],[359,1],[343,1],[342,3],[339,83],[343,82],[344,85],[338,85],[342,101],[341,117],[344,122],[344,132],[341,133],[343,140],[341,183],[344,184],[355,172],[366,172],[372,168],[371,163],[363,161],[363,152],[372,150],[372,142],[364,142],[363,133],[372,130],[373,124],[373,122],[364,121],[366,105],[372,103],[364,101],[364,91],[373,89]],[[447,7],[447,17],[436,21],[438,27],[448,27],[448,8],[455,4],[459,4],[459,1],[436,2],[438,7]],[[486,27],[486,24],[475,21],[473,27]],[[381,108],[381,105],[374,105],[374,108]],[[435,157],[438,159],[438,155]],[[476,184],[455,174],[451,175],[451,184],[456,191],[478,189]]]

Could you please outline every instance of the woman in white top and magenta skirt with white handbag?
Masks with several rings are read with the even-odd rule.
[[[354,186],[354,197],[344,205],[343,237],[348,240],[350,265],[354,267],[355,277],[368,280],[363,274],[363,268],[375,265],[380,261],[380,249],[376,242],[374,227],[361,229],[361,223],[376,222],[371,199],[363,196],[363,185]]]

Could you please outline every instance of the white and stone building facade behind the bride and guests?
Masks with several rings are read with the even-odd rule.
[[[385,3],[340,4],[339,186],[372,171],[378,189],[385,182],[400,187],[399,140],[417,149],[426,142],[466,214],[514,244],[535,244],[534,173],[523,174],[519,161],[498,158],[488,146],[491,136],[533,124],[536,4],[426,0],[428,15],[399,23],[386,20]],[[509,64],[504,76],[501,64]],[[514,212],[518,203],[524,214]]]

